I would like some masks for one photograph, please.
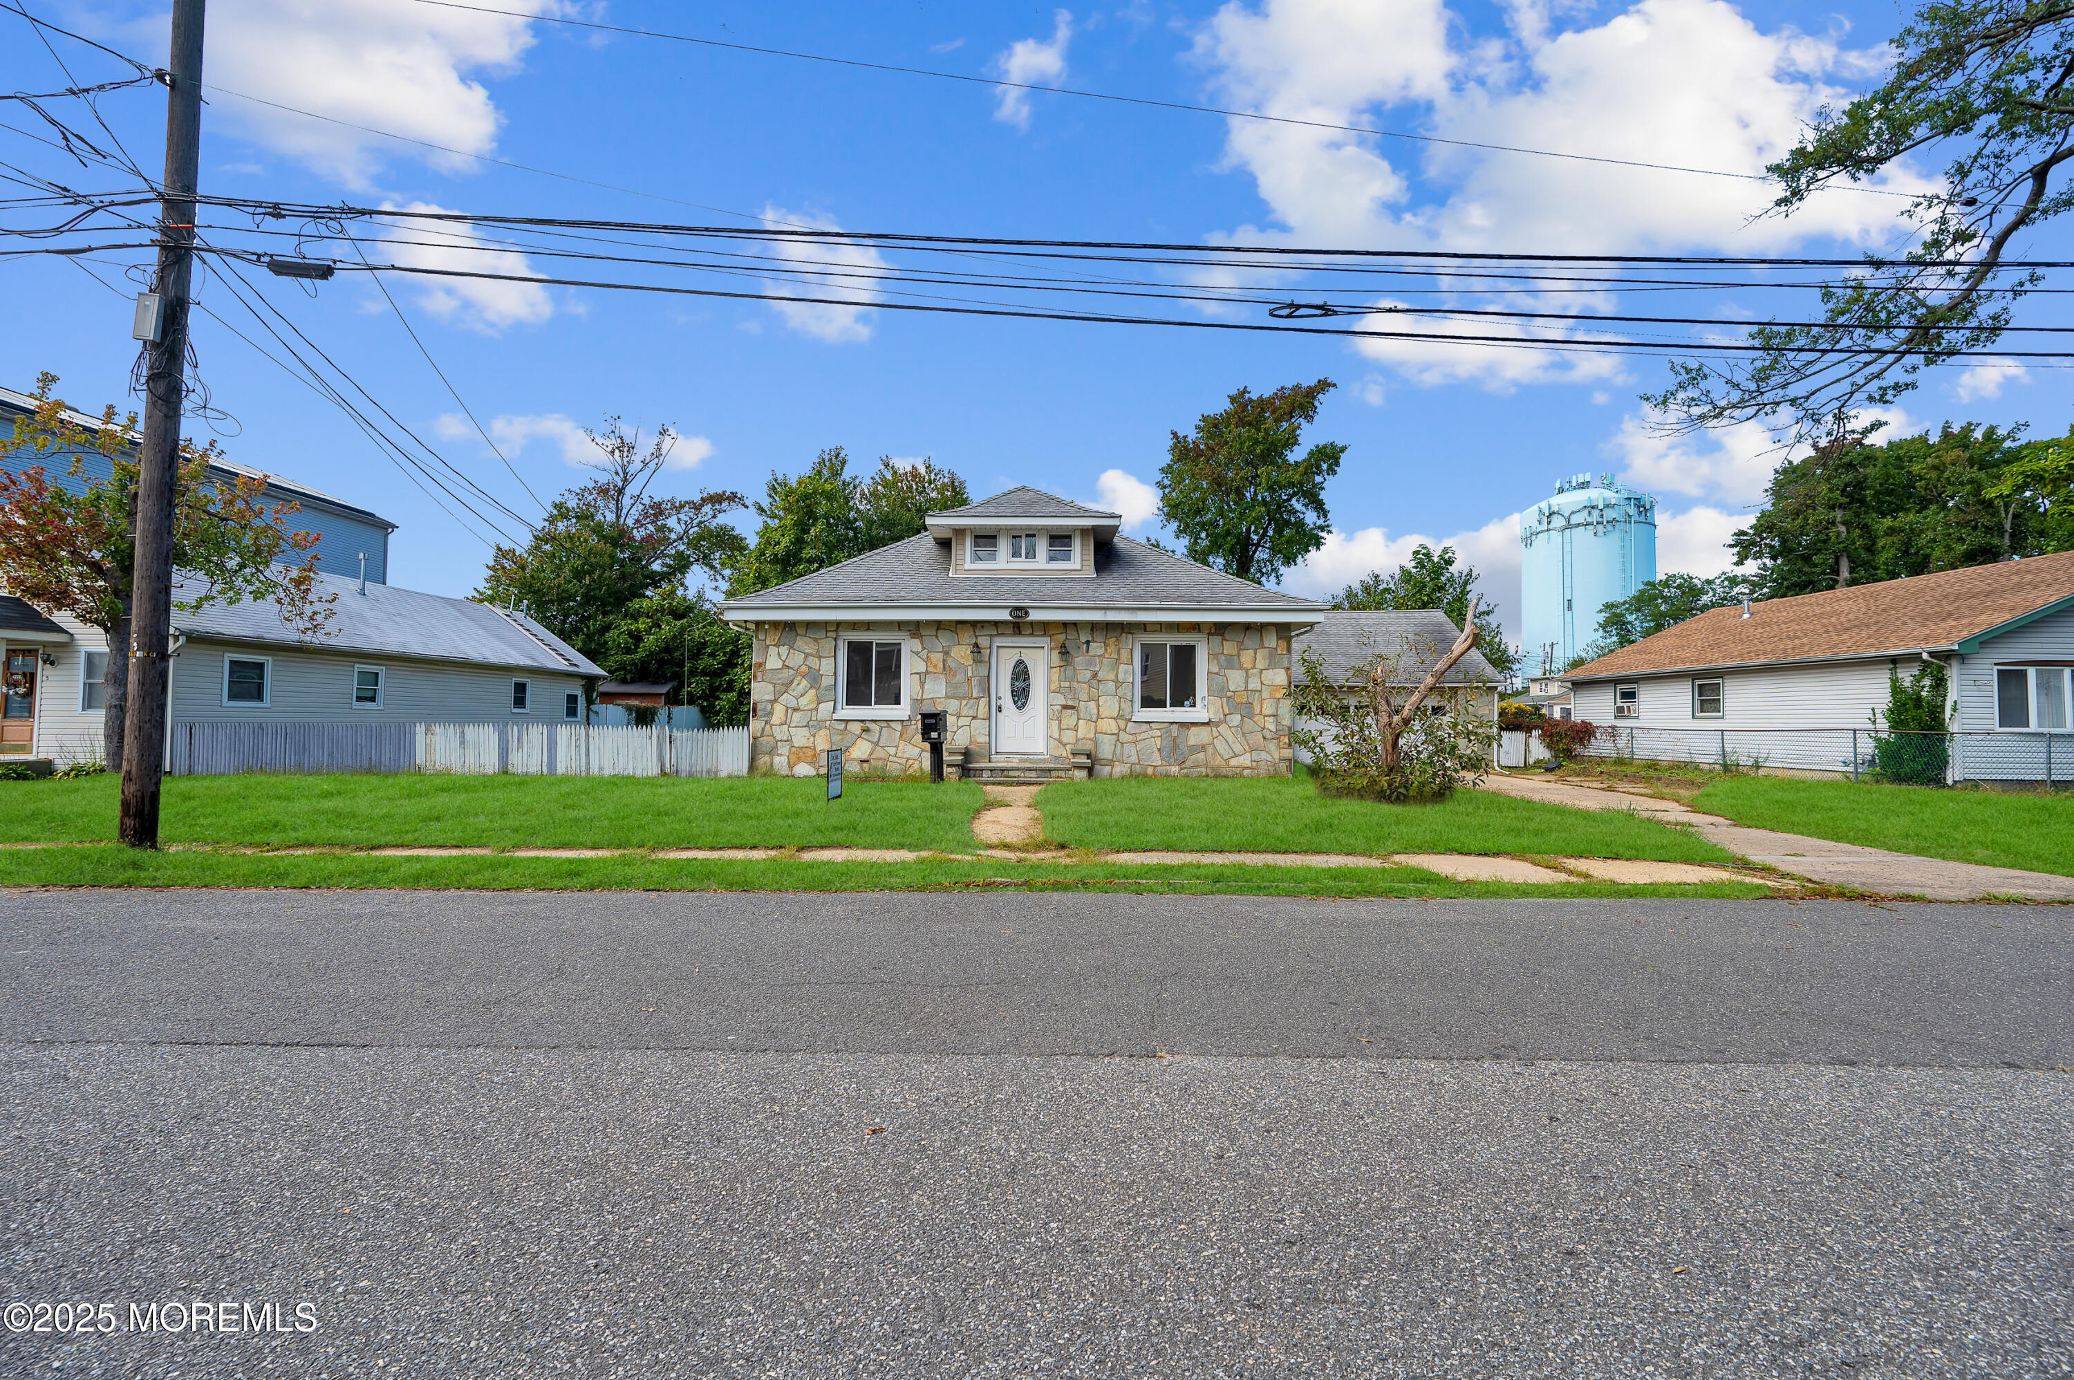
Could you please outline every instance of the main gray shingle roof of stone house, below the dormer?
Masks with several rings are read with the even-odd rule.
[[[1172,604],[1176,608],[1271,608],[1309,618],[1319,604],[1211,571],[1172,552],[1118,537],[1095,546],[1095,577],[1074,575],[952,575],[950,550],[923,533],[906,542],[881,546],[803,575],[786,585],[774,585],[722,608],[728,614],[753,614],[757,608],[786,606],[861,606],[871,604],[1004,604],[1004,606],[1085,606],[1085,604]]]

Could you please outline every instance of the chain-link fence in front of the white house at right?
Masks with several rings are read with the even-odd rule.
[[[1690,762],[1726,772],[1804,772],[1918,786],[1960,780],[2074,784],[2074,733],[1641,728],[1614,724],[1593,739],[1582,755]]]

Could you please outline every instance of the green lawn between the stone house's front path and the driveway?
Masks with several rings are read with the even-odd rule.
[[[1439,805],[1321,797],[1307,776],[1124,776],[1045,786],[1043,832],[1076,849],[1261,853],[1570,853],[1726,863],[1730,853],[1651,820],[1483,791]]]

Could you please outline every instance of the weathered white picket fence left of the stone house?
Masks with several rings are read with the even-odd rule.
[[[172,726],[174,776],[446,772],[458,776],[747,776],[749,728],[593,724]]]

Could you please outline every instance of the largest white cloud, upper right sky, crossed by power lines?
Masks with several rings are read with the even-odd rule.
[[[1603,23],[1551,31],[1549,8],[1506,6],[1504,37],[1466,37],[1444,0],[1230,0],[1199,31],[1220,104],[1321,125],[1761,174],[1825,102],[1885,60],[1792,27],[1761,31],[1723,0],[1638,0]],[[1771,253],[1813,237],[1879,245],[1898,197],[1825,193],[1790,220],[1755,220],[1767,185],[1495,149],[1228,120],[1226,168],[1253,176],[1271,222],[1236,243],[1493,251]],[[1916,191],[1925,178],[1875,185]],[[1533,299],[1522,299],[1533,301]],[[1574,311],[1611,299],[1568,299]],[[1551,309],[1551,307],[1541,307]],[[1402,326],[1398,326],[1402,330]],[[1545,336],[1491,322],[1435,330]],[[1576,328],[1572,328],[1576,330]],[[1421,386],[1624,380],[1614,355],[1361,340]]]

